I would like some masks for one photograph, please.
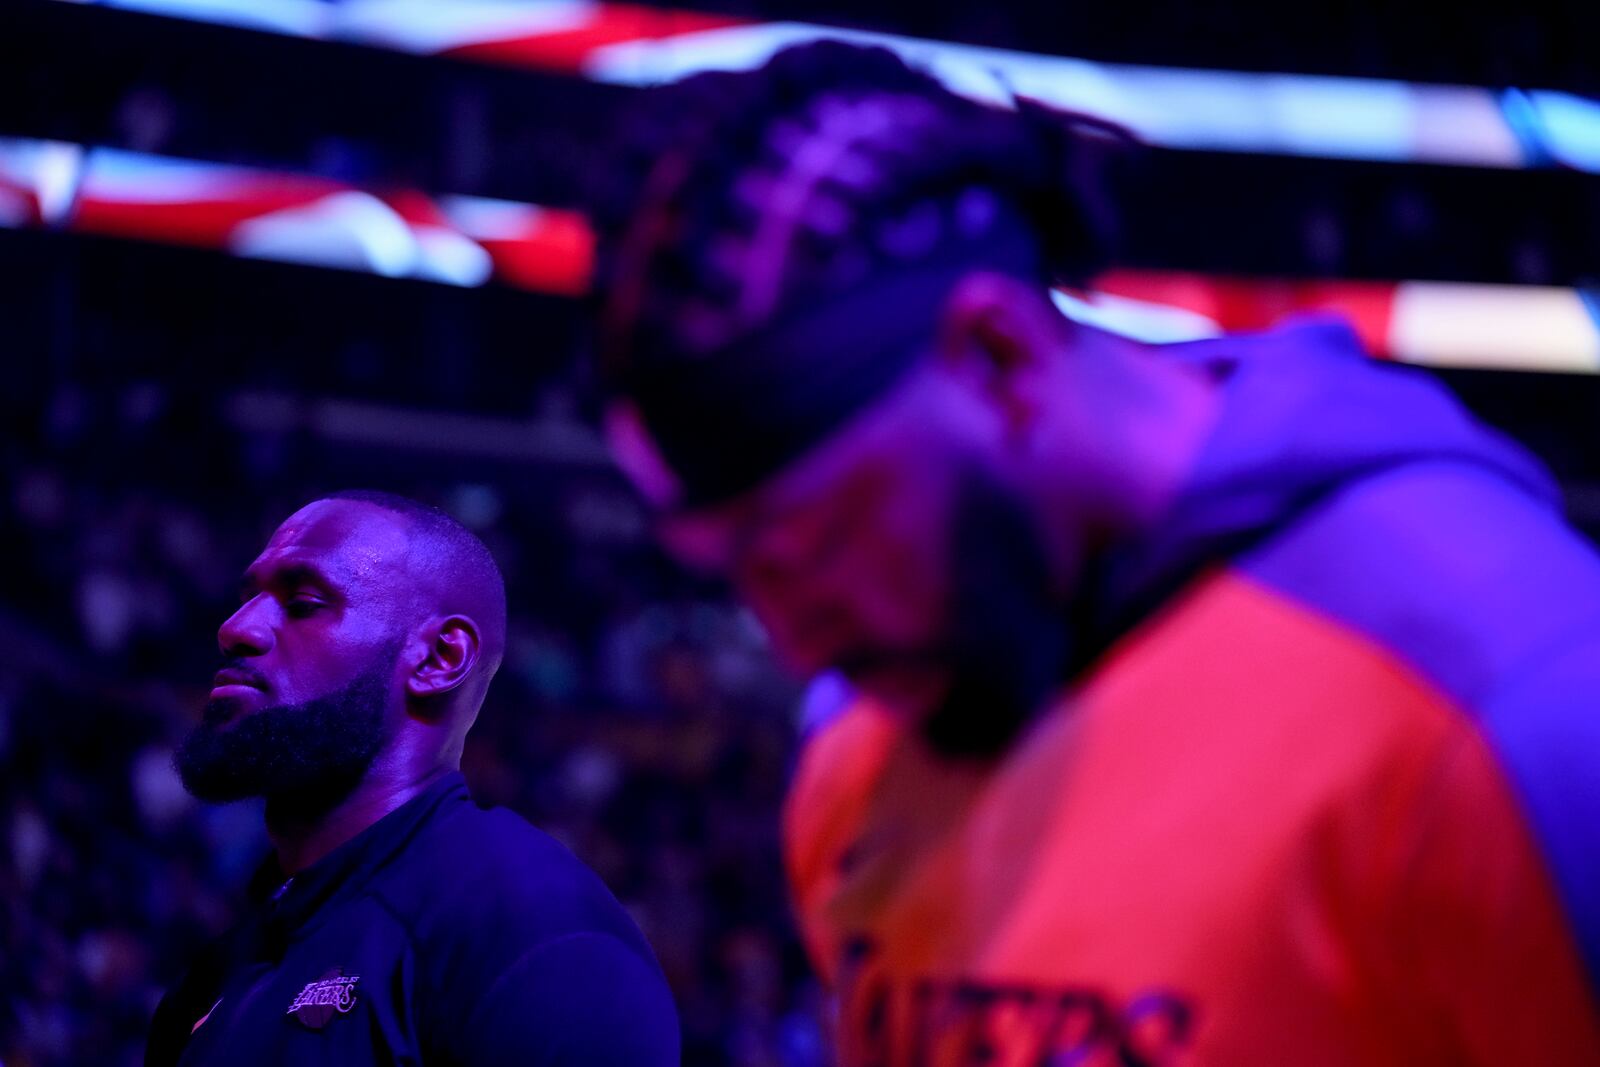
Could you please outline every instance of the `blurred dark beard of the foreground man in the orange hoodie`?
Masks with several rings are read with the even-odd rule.
[[[1066,681],[1069,613],[1038,526],[981,470],[962,477],[949,566],[950,683],[923,737],[949,757],[990,758]]]

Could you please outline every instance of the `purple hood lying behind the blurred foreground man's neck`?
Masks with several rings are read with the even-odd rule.
[[[1222,389],[1221,411],[1166,515],[1110,549],[1094,576],[1080,630],[1088,656],[1197,573],[1395,467],[1469,464],[1560,510],[1555,483],[1522,446],[1478,422],[1437,378],[1370,358],[1342,320],[1162,352],[1205,368]]]

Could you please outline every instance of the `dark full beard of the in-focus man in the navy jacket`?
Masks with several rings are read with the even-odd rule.
[[[173,757],[194,797],[229,803],[267,798],[269,821],[304,821],[331,811],[366,776],[384,747],[392,656],[347,686],[302,704],[242,712],[232,726],[224,702],[205,717]]]

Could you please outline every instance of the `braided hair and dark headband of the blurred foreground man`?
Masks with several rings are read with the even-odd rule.
[[[962,277],[1086,280],[1122,142],[838,42],[646,93],[592,210],[608,418],[680,506],[752,488],[920,360]]]

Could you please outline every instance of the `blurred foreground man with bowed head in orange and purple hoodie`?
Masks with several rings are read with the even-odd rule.
[[[786,825],[843,1061],[1600,1062],[1600,563],[1544,472],[1334,323],[1064,318],[1091,120],[830,43],[646,109],[608,432],[864,694]]]

